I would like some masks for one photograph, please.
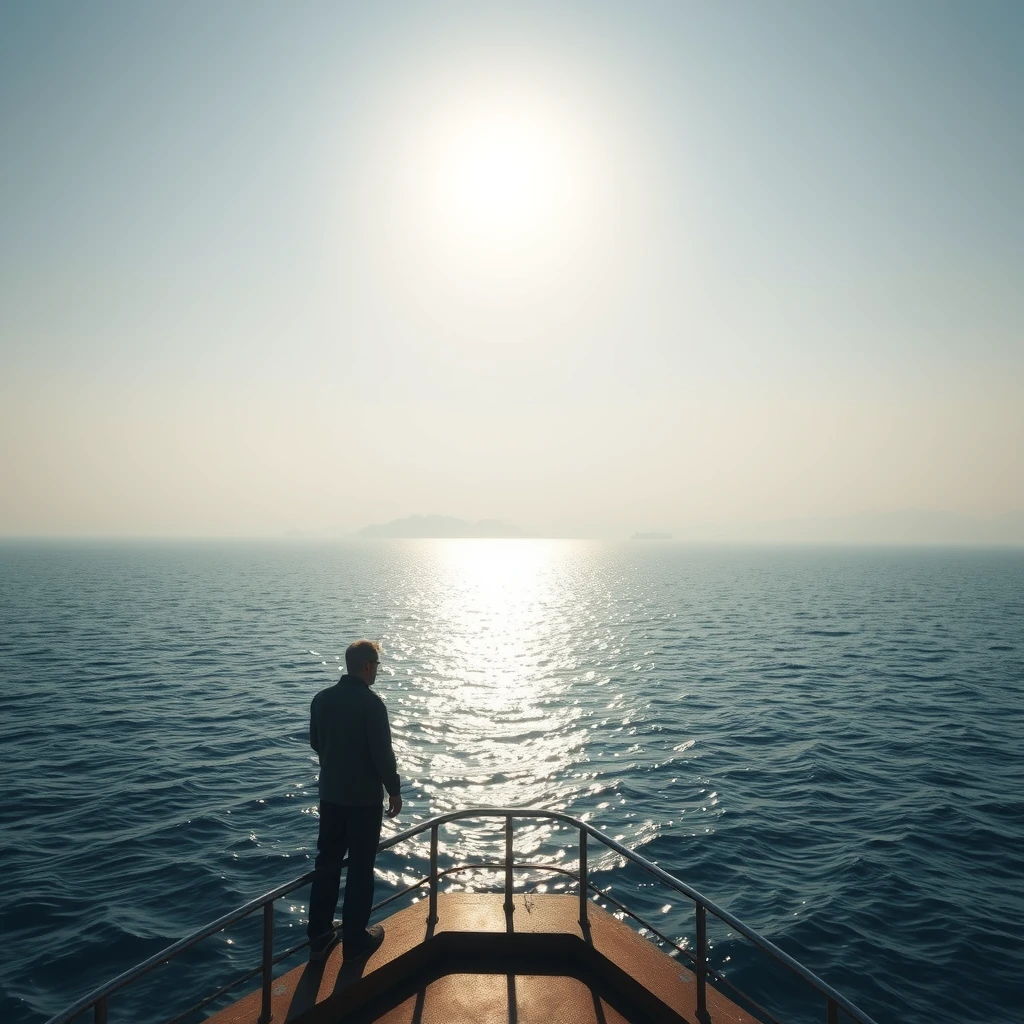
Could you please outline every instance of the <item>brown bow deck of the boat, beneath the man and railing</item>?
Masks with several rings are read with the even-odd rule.
[[[384,943],[345,965],[336,946],[273,982],[276,1024],[757,1024],[711,986],[698,1022],[696,982],[676,959],[574,896],[450,893],[382,922]],[[211,1018],[256,1024],[258,991]]]

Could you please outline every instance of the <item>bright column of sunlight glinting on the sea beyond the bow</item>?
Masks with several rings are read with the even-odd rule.
[[[583,674],[566,648],[581,632],[565,546],[456,541],[431,555],[410,599],[415,638],[384,638],[396,753],[426,808],[412,819],[482,804],[565,808],[586,762],[582,711],[569,696]],[[555,831],[524,823],[517,851],[539,850]],[[454,824],[440,852],[498,859],[503,842],[500,822]]]

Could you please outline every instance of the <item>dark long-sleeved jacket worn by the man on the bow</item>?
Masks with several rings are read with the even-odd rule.
[[[387,708],[356,676],[342,676],[309,707],[309,745],[319,755],[319,798],[347,807],[380,805],[398,796]]]

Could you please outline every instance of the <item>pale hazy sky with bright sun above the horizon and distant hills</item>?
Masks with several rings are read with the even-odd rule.
[[[0,4],[0,534],[1024,508],[1024,4]]]

